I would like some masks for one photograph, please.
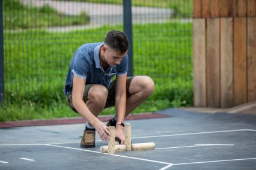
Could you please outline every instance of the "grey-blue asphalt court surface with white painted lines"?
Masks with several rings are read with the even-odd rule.
[[[0,129],[0,169],[255,169],[256,119],[168,109],[167,118],[129,120],[132,143],[154,150],[80,148],[84,124]]]

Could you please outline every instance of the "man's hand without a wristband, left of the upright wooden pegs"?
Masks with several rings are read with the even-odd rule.
[[[99,120],[97,121],[97,123],[95,123],[94,128],[102,141],[109,140],[110,133],[108,126],[106,126],[103,122]]]

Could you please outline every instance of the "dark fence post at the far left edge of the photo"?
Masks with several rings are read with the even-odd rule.
[[[0,0],[0,103],[4,103],[4,29],[2,13],[2,0]]]

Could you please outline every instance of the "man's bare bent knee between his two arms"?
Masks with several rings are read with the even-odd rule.
[[[88,99],[93,102],[105,104],[106,99],[108,98],[108,89],[102,85],[94,85],[91,87],[88,93]]]

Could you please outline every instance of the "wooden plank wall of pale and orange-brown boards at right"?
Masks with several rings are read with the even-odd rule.
[[[256,101],[256,0],[194,0],[194,106]]]

